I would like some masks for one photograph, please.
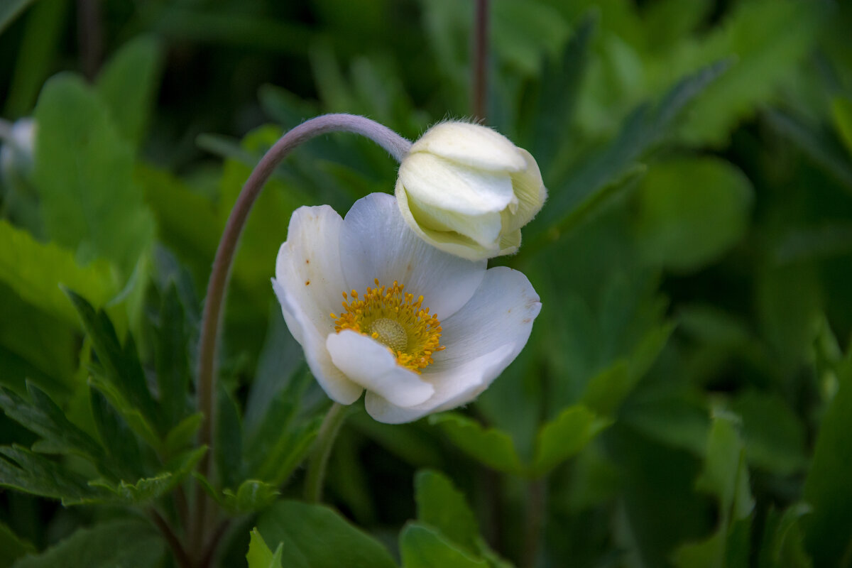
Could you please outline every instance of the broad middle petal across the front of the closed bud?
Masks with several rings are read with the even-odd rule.
[[[423,204],[463,215],[499,213],[516,199],[508,172],[461,166],[424,152],[402,160],[399,179]]]

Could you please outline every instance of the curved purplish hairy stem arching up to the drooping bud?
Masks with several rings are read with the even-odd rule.
[[[201,319],[199,339],[197,395],[199,410],[204,413],[204,422],[201,423],[199,431],[199,445],[207,445],[210,448],[201,462],[200,470],[208,479],[212,467],[210,456],[214,450],[213,430],[216,424],[215,405],[213,404],[214,394],[216,393],[216,342],[222,323],[222,303],[225,298],[227,278],[233,264],[239,235],[245,227],[251,206],[254,205],[257,196],[260,195],[264,184],[287,154],[293,148],[314,138],[314,136],[341,131],[366,136],[387,150],[397,161],[400,161],[412,146],[410,141],[369,118],[352,114],[325,114],[311,118],[287,132],[261,158],[261,161],[249,175],[249,179],[245,181],[245,186],[243,186],[243,190],[227,218],[222,239],[219,241],[219,248],[216,250],[216,258],[213,261],[210,282],[207,284],[207,297],[204,301],[204,314]],[[213,520],[210,519],[210,513],[207,510],[209,504],[209,497],[198,485],[190,531],[193,549],[196,551],[199,551],[203,546],[205,525]]]

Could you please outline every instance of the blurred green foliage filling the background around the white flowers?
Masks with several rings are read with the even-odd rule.
[[[193,484],[222,566],[852,563],[839,0],[492,0],[486,123],[550,191],[492,261],[541,296],[527,347],[466,409],[356,408],[335,508],[296,501],[328,403],[274,255],[293,209],[395,177],[368,141],[314,139],[241,240],[217,474],[193,471],[201,300],[251,168],[323,112],[412,139],[469,117],[474,4],[0,2],[0,147],[37,123],[0,170],[0,566],[180,565],[162,525],[187,536]]]

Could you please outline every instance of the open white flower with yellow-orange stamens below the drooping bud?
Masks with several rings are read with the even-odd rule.
[[[424,243],[384,193],[345,219],[327,205],[296,209],[273,288],[325,393],[352,404],[366,389],[367,411],[389,423],[475,399],[541,307],[522,273]]]

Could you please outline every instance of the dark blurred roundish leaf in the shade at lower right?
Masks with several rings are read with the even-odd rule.
[[[742,419],[746,458],[753,466],[780,475],[807,466],[803,424],[784,399],[746,391],[734,399],[731,410]]]

